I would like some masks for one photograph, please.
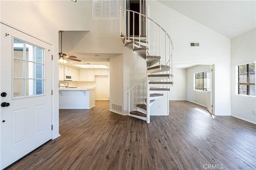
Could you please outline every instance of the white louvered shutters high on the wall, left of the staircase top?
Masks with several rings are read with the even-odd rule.
[[[120,7],[124,0],[92,0],[93,20],[120,20]]]

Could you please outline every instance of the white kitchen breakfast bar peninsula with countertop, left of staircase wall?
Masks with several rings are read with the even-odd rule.
[[[95,106],[95,88],[59,88],[60,109],[90,109]]]

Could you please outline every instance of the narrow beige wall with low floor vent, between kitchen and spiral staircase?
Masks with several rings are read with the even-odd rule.
[[[124,55],[110,57],[110,111],[112,104],[120,105],[124,108]],[[114,111],[116,112],[116,111]],[[117,112],[116,112],[117,113]],[[122,112],[119,112],[123,114]]]

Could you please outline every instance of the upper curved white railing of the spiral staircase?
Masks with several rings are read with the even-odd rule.
[[[159,65],[163,64],[169,66],[172,73],[173,43],[166,30],[162,28],[156,21],[144,14],[140,14],[132,10],[120,10],[120,12],[120,35],[122,35],[121,38],[124,39],[124,44],[127,40],[132,41],[130,38],[134,39],[136,34],[134,26],[136,22],[135,18],[138,18],[138,43],[141,44],[142,39],[146,41],[147,43],[145,44],[147,44],[148,47],[146,49],[146,54],[160,56],[161,60],[158,62]],[[146,24],[141,23],[141,20],[144,20]],[[141,24],[146,25],[146,27],[143,28],[145,31],[141,31]],[[141,34],[142,32],[146,35],[146,37]]]

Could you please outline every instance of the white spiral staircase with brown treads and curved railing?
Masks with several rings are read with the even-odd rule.
[[[173,43],[168,33],[148,16],[131,10],[120,12],[120,38],[126,48],[145,59],[147,66],[146,78],[127,92],[128,112],[130,116],[150,123],[150,107],[155,100],[163,98],[164,93],[169,93],[173,84]],[[135,35],[138,19],[139,35]]]

